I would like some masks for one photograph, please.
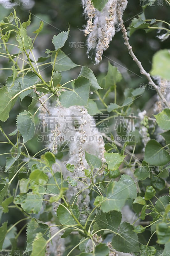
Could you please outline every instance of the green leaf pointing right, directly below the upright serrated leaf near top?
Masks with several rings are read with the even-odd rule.
[[[51,64],[52,65],[54,63],[54,58],[55,58],[55,53],[53,53],[51,56],[51,62],[52,62]],[[75,68],[78,66],[79,65],[72,62],[72,60],[70,60],[70,58],[67,57],[67,55],[64,52],[62,52],[61,50],[58,51],[58,55],[55,60],[55,66],[54,66],[55,70],[62,72],[62,71],[70,70],[71,68]]]

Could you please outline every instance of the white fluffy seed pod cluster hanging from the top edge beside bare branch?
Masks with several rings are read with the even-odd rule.
[[[87,15],[87,26],[84,30],[87,39],[87,53],[95,49],[95,62],[102,60],[103,52],[108,48],[119,28],[119,17],[122,16],[127,0],[108,0],[102,12],[94,8],[91,0],[83,0],[84,12]]]

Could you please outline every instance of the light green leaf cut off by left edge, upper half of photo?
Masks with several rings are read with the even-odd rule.
[[[8,119],[10,110],[18,99],[18,96],[13,99],[15,94],[15,92],[8,92],[6,86],[0,88],[0,120],[3,122]]]

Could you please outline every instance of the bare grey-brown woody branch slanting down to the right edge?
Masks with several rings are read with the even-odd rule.
[[[149,84],[153,85],[155,91],[158,93],[159,97],[160,97],[161,100],[164,102],[164,104],[166,105],[166,107],[167,107],[167,108],[170,108],[169,103],[167,102],[167,100],[165,99],[165,97],[163,96],[163,94],[160,92],[159,86],[156,85],[156,84],[153,82],[153,80],[152,80],[150,74],[145,71],[145,69],[143,68],[141,62],[137,59],[137,57],[135,56],[134,52],[132,51],[132,46],[129,44],[129,38],[128,38],[128,35],[127,35],[127,30],[126,30],[126,28],[125,28],[125,26],[124,26],[124,24],[123,24],[123,19],[122,19],[121,7],[122,7],[122,2],[123,2],[123,1],[124,1],[124,0],[118,0],[118,6],[117,6],[118,11],[117,11],[117,15],[118,15],[118,22],[119,22],[119,24],[120,24],[120,27],[121,27],[121,30],[122,30],[122,34],[123,34],[123,38],[124,38],[124,41],[125,41],[124,44],[125,44],[126,47],[128,48],[128,51],[129,51],[130,56],[132,57],[132,59],[136,62],[137,66],[139,67],[140,73],[141,73],[142,75],[144,75],[144,76],[147,78],[147,80],[149,81]]]

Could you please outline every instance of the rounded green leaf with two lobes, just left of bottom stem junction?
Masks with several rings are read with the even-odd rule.
[[[78,205],[72,204],[70,205],[70,208],[68,211],[67,207],[65,204],[60,204],[57,208],[57,217],[58,220],[60,221],[61,224],[63,225],[74,225],[76,224],[76,221],[74,220],[74,218],[72,217],[72,215],[70,214],[71,212],[74,212],[74,216],[78,219],[80,212],[78,210]]]

